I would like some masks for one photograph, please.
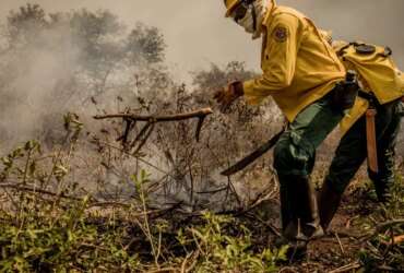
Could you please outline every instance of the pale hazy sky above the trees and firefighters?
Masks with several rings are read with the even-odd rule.
[[[0,16],[26,2],[46,11],[108,9],[132,25],[136,21],[157,26],[168,44],[167,59],[175,74],[206,67],[210,62],[246,61],[259,70],[260,43],[224,19],[223,0],[0,0]],[[278,0],[333,29],[338,38],[389,45],[404,69],[404,0]],[[2,21],[4,22],[4,21]]]

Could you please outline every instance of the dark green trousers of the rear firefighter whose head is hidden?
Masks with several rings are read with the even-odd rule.
[[[375,185],[379,201],[389,199],[389,188],[394,182],[394,147],[400,123],[404,116],[404,105],[392,102],[377,107],[376,134],[379,173],[368,169],[369,178]],[[366,117],[360,118],[341,140],[334,159],[330,166],[325,183],[342,194],[367,158]]]

